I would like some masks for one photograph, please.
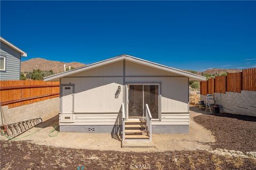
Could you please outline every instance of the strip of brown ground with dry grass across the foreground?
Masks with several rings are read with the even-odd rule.
[[[78,169],[77,166],[84,169],[255,169],[256,159],[207,151],[98,151],[1,141],[1,169]]]

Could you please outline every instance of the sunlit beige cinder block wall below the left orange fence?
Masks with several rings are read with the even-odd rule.
[[[6,124],[10,124],[30,120],[37,117],[44,117],[53,112],[59,112],[59,97],[10,109],[8,106],[2,106],[1,114],[3,114]]]

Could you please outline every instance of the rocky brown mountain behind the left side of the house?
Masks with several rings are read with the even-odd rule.
[[[85,65],[78,62],[65,63],[59,61],[45,60],[44,58],[31,58],[30,60],[21,62],[21,72],[31,72],[33,70],[40,69],[43,71],[52,70],[55,74],[64,71],[64,64],[66,64],[67,68],[69,66],[76,68]]]

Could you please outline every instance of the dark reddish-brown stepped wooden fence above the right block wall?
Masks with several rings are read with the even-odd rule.
[[[216,76],[214,79],[201,81],[201,95],[214,92],[225,94],[226,91],[241,92],[241,90],[256,91],[256,68],[243,69],[242,72],[228,73],[227,76]]]

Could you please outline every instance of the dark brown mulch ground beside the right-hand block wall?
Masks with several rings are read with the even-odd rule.
[[[222,113],[203,114],[194,120],[216,137],[212,148],[256,151],[256,117]]]

